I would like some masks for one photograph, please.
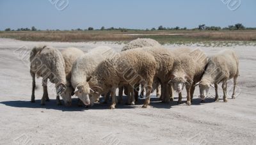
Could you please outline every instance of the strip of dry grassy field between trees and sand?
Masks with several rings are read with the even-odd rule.
[[[136,38],[152,38],[162,44],[256,43],[256,30],[0,31],[0,38],[46,42],[128,42]]]

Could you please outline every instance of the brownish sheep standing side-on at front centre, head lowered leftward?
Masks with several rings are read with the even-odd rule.
[[[116,105],[116,88],[120,85],[144,84],[147,89],[147,98],[143,107],[147,107],[150,103],[150,93],[152,91],[152,83],[156,73],[156,60],[154,56],[143,52],[143,50],[127,50],[120,52],[120,55],[106,59],[97,66],[89,84],[93,89],[93,98],[98,98],[100,94],[111,91],[112,104],[110,109],[115,109]],[[134,103],[134,93],[129,90]],[[87,100],[90,100],[87,98]]]

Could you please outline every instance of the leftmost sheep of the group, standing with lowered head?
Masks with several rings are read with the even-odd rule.
[[[42,77],[44,94],[41,99],[41,105],[45,105],[45,101],[49,101],[47,92],[47,80],[55,84],[57,93],[57,104],[61,105],[60,95],[65,91],[67,80],[65,75],[65,61],[61,52],[53,47],[34,47],[29,57],[31,66],[30,73],[33,79],[31,102],[35,102],[35,76]],[[70,100],[63,98],[66,105]]]

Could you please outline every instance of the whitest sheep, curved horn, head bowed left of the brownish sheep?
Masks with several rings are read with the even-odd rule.
[[[75,88],[75,94],[85,105],[93,105],[95,100],[89,97],[90,87],[86,81],[95,68],[107,57],[111,57],[115,52],[111,47],[100,46],[90,50],[88,53],[79,57],[72,66],[71,84]]]

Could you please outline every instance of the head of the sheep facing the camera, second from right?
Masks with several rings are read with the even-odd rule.
[[[168,83],[173,84],[173,89],[177,93],[181,93],[184,86],[191,86],[193,80],[188,75],[172,74]]]

